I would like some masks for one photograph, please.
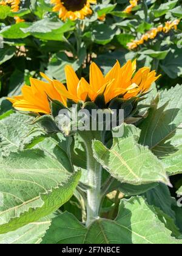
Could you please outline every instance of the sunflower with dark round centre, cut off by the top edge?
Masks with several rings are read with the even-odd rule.
[[[85,16],[92,14],[90,4],[96,4],[96,0],[50,0],[53,12],[59,12],[59,18],[66,20],[83,20]]]

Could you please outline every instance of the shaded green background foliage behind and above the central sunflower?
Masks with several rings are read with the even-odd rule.
[[[128,5],[127,0],[98,1],[92,5],[92,16],[65,23],[52,12],[49,0],[22,1],[16,13],[0,5],[0,34],[4,38],[0,50],[1,97],[19,94],[22,84],[29,84],[29,77],[39,77],[40,71],[64,81],[66,63],[71,63],[79,76],[87,74],[93,60],[106,73],[116,59],[122,64],[137,58],[139,66],[151,66],[163,75],[158,88],[181,84],[181,21],[177,30],[162,32],[132,51],[127,47],[153,27],[180,20],[181,1],[141,0],[131,13],[123,12]],[[15,15],[25,21],[15,24]],[[102,15],[106,20],[98,20]]]

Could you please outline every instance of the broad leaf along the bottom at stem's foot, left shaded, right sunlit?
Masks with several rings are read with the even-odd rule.
[[[42,243],[57,244],[181,244],[158,219],[143,197],[122,200],[115,221],[98,219],[86,229],[75,216],[64,213],[53,219]],[[166,225],[167,226],[167,225]],[[172,226],[174,230],[174,224]]]

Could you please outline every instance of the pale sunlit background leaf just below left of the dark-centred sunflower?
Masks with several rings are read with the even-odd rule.
[[[21,29],[25,34],[31,34],[41,40],[64,41],[63,35],[65,32],[73,30],[75,23],[68,20],[63,23],[61,20],[52,21],[49,18],[35,21],[31,26]]]

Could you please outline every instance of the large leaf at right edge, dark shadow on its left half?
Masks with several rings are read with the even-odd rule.
[[[182,87],[161,91],[140,125],[140,143],[162,158],[169,174],[182,172]]]

